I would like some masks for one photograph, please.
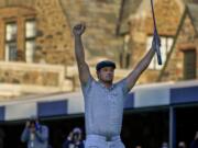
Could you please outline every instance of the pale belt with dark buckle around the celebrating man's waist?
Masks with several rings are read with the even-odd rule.
[[[94,135],[94,134],[89,134],[87,135],[87,139],[101,139],[101,140],[106,140],[106,141],[114,141],[114,140],[120,140],[120,136],[101,136],[101,135]]]

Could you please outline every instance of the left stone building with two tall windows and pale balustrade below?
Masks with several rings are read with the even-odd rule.
[[[0,0],[0,94],[13,98],[78,88],[72,27],[81,21],[87,24],[88,64],[117,61],[122,48],[114,32],[119,9],[118,0]]]

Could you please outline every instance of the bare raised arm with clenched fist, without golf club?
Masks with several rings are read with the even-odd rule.
[[[85,52],[81,42],[81,35],[84,34],[85,30],[86,30],[85,24],[77,24],[73,29],[73,33],[75,36],[75,55],[78,66],[79,79],[82,84],[86,84],[88,79],[91,77],[89,67],[85,61]]]

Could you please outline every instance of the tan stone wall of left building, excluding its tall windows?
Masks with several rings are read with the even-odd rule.
[[[74,65],[72,27],[80,21],[87,23],[87,31],[82,37],[88,64],[95,66],[98,60],[103,58],[118,61],[118,53],[122,49],[122,37],[118,38],[116,36],[120,2],[118,0],[0,0],[0,9],[7,9],[10,12],[13,8],[18,8],[19,10],[21,8],[23,10],[31,10],[35,14],[31,15],[36,21],[37,30],[34,64],[40,64],[37,65],[40,69],[41,65],[48,64],[53,64],[54,67],[57,65],[65,67]],[[21,62],[25,65],[25,41],[21,39],[24,39],[24,21],[26,16],[28,14],[25,13],[23,15],[15,13],[15,15],[10,16],[13,19],[16,18],[18,25],[20,29],[23,29],[18,34],[18,38],[20,38],[20,46],[18,46],[20,58],[18,59],[19,61],[12,62],[10,68],[0,69],[0,83],[16,84],[18,87],[23,86],[22,89],[24,91],[24,86],[35,88],[50,87],[51,89],[61,87],[64,89],[55,90],[74,91],[74,83],[77,88],[79,87],[78,73],[68,76],[64,72],[65,76],[63,76],[64,79],[62,82],[65,84],[62,84],[58,79],[58,70],[51,71],[48,69],[46,71],[40,71],[36,69],[36,66],[33,70],[25,67],[21,67],[24,69],[18,67]],[[4,35],[4,32],[1,34]],[[2,39],[2,42],[4,41]],[[2,42],[0,44],[2,44],[1,47],[3,50],[4,45]],[[4,53],[1,55],[1,60],[4,60]],[[3,65],[8,66],[6,62],[2,64],[2,67]],[[30,65],[26,64],[26,66],[29,67]],[[66,79],[69,82],[66,82]]]

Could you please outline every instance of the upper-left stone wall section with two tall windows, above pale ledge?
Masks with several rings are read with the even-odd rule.
[[[1,0],[1,60],[72,65],[69,24],[57,0]]]

